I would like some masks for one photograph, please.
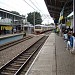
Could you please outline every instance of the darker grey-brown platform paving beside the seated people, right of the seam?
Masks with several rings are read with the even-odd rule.
[[[66,43],[60,36],[56,40],[56,73],[57,75],[75,75],[75,55],[66,50]]]

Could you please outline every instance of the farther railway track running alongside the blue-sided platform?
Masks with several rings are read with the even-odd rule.
[[[26,36],[26,37],[24,37],[24,38],[22,38],[22,39],[20,39],[20,40],[13,41],[13,42],[9,42],[9,43],[0,45],[0,51],[6,49],[6,48],[8,48],[8,47],[14,46],[14,45],[16,45],[16,44],[18,44],[18,43],[21,43],[21,42],[23,42],[23,41],[26,41],[26,40],[28,40],[28,39],[31,39],[32,37],[33,37],[33,36]]]

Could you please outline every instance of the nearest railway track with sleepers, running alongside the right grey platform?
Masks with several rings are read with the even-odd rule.
[[[37,50],[43,45],[48,36],[42,37],[21,54],[14,57],[11,61],[0,68],[0,75],[23,75],[27,71],[27,65]],[[27,67],[26,67],[27,66]],[[25,69],[24,72],[23,69]]]

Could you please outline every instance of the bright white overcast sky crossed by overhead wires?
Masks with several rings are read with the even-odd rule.
[[[37,11],[42,16],[43,24],[54,22],[48,13],[44,0],[0,0],[0,8],[17,11],[25,16],[30,12]]]

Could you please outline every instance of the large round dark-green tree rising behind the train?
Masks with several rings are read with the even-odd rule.
[[[34,25],[34,14],[35,14],[35,25],[41,24],[42,18],[41,18],[40,13],[38,12],[29,13],[27,16],[27,21]]]

